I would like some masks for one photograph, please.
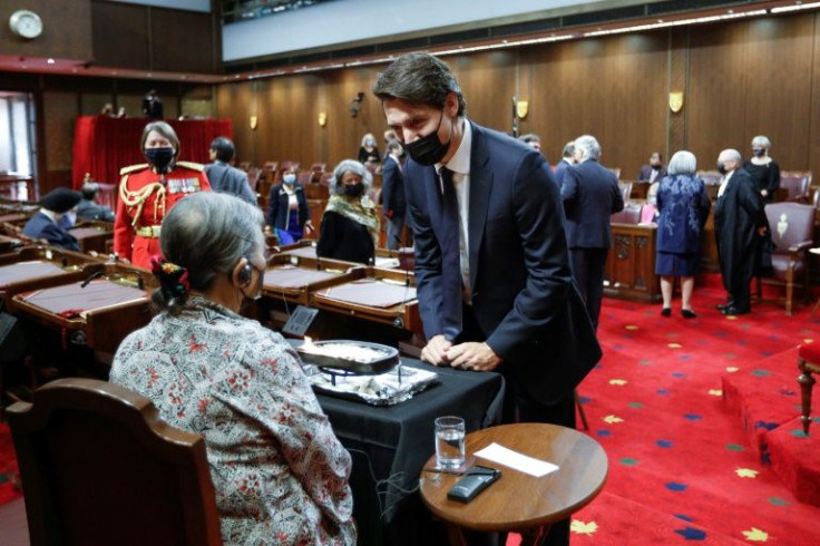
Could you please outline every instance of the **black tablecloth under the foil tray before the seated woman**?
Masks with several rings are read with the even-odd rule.
[[[441,537],[436,536],[437,527],[416,490],[421,468],[436,449],[433,420],[462,417],[467,432],[500,422],[500,374],[433,368],[407,358],[402,363],[436,371],[436,384],[390,407],[318,397],[353,457],[351,487],[361,545],[438,542]]]

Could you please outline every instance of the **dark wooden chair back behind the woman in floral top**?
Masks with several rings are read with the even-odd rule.
[[[60,379],[7,417],[32,546],[222,544],[205,440],[150,400]]]

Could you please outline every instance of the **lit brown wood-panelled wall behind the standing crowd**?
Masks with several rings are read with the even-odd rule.
[[[527,48],[448,56],[468,101],[468,117],[511,130],[511,99],[529,100],[519,133],[540,135],[555,163],[564,144],[595,135],[602,163],[636,176],[653,150],[686,148],[713,168],[724,148],[749,155],[767,135],[784,169],[820,175],[820,36],[817,13],[609,36]],[[387,126],[370,92],[383,66],[225,84],[218,117],[234,121],[237,158],[316,160],[355,157],[364,133]],[[684,91],[683,110],[668,91]],[[358,117],[348,111],[364,91]],[[318,115],[328,114],[320,127]],[[251,116],[257,116],[256,130]],[[380,144],[381,148],[381,144]]]

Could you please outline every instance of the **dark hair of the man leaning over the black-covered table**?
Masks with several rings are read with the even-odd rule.
[[[447,95],[458,98],[458,115],[463,116],[467,100],[450,67],[429,53],[413,52],[399,57],[375,77],[373,95],[381,100],[398,98],[411,104],[442,109]]]

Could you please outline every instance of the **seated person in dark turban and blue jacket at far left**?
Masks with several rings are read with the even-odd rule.
[[[38,203],[40,209],[22,228],[23,235],[47,241],[48,244],[69,251],[79,251],[77,238],[68,233],[75,223],[76,207],[80,193],[58,187],[47,193]]]

